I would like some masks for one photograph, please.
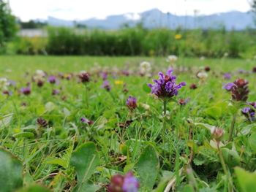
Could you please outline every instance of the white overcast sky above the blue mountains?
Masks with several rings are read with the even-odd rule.
[[[200,15],[250,9],[251,0],[9,0],[12,12],[22,20],[53,16],[67,20],[105,18],[108,15],[160,9],[176,15]]]

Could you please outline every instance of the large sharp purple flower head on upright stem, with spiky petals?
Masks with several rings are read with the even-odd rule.
[[[154,84],[148,84],[151,88],[151,93],[159,97],[160,99],[171,98],[178,95],[178,90],[186,85],[186,82],[176,84],[176,76],[173,74],[173,70],[167,70],[166,74],[159,72],[159,79],[153,80]]]

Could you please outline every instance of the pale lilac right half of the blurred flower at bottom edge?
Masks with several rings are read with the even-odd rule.
[[[140,183],[133,176],[132,172],[128,172],[124,175],[124,183],[122,186],[123,191],[125,192],[137,192],[138,188],[140,187]]]

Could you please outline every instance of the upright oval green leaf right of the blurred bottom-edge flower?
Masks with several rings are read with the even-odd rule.
[[[151,191],[157,179],[159,172],[159,160],[157,152],[152,145],[148,145],[140,155],[135,169],[140,176],[142,188]]]

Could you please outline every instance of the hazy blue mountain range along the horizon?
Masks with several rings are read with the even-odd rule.
[[[50,26],[72,27],[75,23],[86,25],[88,28],[118,29],[121,26],[135,26],[143,23],[146,28],[219,28],[225,26],[227,30],[243,30],[247,27],[255,27],[255,17],[253,12],[222,12],[213,15],[200,15],[197,17],[190,15],[173,15],[164,13],[159,9],[151,9],[139,14],[127,13],[124,15],[110,15],[105,19],[91,18],[88,20],[61,20],[48,17],[46,22]]]

